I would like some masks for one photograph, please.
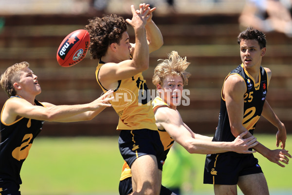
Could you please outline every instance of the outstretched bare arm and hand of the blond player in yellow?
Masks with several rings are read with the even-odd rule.
[[[159,129],[164,129],[191,154],[216,154],[228,151],[254,153],[254,151],[249,151],[248,149],[257,144],[254,137],[243,140],[244,134],[241,135],[242,137],[237,137],[233,142],[212,142],[211,140],[206,141],[193,138],[192,133],[185,128],[178,111],[166,107],[156,110],[155,119]]]

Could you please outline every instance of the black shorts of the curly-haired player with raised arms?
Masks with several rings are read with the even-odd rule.
[[[162,170],[165,159],[164,146],[158,131],[149,129],[121,130],[119,149],[129,167],[140,156],[154,155],[157,159],[158,169]]]

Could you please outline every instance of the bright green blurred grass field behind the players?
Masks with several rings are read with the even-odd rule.
[[[275,149],[274,135],[257,138]],[[287,150],[292,149],[291,140],[290,134]],[[205,155],[189,156],[197,169],[194,194],[213,194],[212,185],[202,184]],[[259,154],[255,156],[271,195],[291,195],[291,164],[282,168]],[[20,191],[22,195],[118,195],[122,164],[118,137],[38,137],[22,166]]]

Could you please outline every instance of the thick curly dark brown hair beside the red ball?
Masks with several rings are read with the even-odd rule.
[[[111,43],[119,44],[122,34],[127,31],[127,28],[126,20],[114,14],[90,19],[85,30],[90,34],[91,59],[101,59]]]

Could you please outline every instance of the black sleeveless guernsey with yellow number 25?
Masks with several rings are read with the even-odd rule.
[[[259,79],[255,83],[254,78],[244,68],[243,64],[231,71],[225,80],[230,75],[238,75],[246,85],[246,92],[244,94],[244,116],[242,125],[251,133],[254,133],[256,122],[261,116],[265,99],[268,92],[268,78],[267,73],[263,67],[260,67]],[[224,80],[224,82],[225,82]],[[223,84],[224,86],[224,84]],[[223,91],[223,88],[222,88]],[[219,114],[218,127],[213,138],[213,141],[233,141],[235,137],[231,133],[229,117],[226,108],[225,99],[221,92],[221,106]]]

